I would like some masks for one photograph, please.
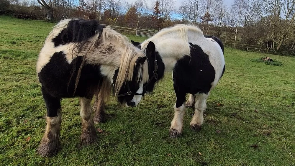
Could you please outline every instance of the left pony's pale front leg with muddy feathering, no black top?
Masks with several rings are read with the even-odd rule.
[[[96,132],[94,123],[91,119],[91,99],[87,99],[85,97],[80,98],[81,104],[81,121],[82,121],[82,134],[81,134],[81,142],[83,145],[90,145],[96,142]]]

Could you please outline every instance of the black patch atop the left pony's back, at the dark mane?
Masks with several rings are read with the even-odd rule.
[[[78,43],[78,50],[83,46],[89,38],[97,33],[102,32],[104,25],[100,25],[97,20],[71,20],[67,27],[63,29],[54,39],[54,47],[59,45],[66,45],[68,43]]]

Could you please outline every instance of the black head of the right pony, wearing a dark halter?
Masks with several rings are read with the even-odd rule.
[[[142,46],[140,42],[132,41],[132,44],[138,48],[145,51],[148,58],[148,74],[149,81],[143,84],[143,92],[151,93],[156,85],[156,83],[163,78],[165,65],[159,53],[155,49],[155,44],[150,41],[148,45]]]

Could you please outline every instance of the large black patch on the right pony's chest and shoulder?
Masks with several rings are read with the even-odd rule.
[[[173,69],[173,87],[176,93],[176,108],[182,106],[186,93],[206,93],[215,79],[215,70],[207,55],[198,45],[191,46],[191,56],[184,56]]]

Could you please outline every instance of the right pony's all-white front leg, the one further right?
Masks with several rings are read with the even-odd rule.
[[[209,96],[208,94],[201,93],[196,95],[196,103],[195,103],[195,114],[193,116],[193,119],[191,120],[191,129],[194,132],[198,132],[201,130],[201,125],[203,124],[204,121],[204,111],[206,109],[206,100]]]

